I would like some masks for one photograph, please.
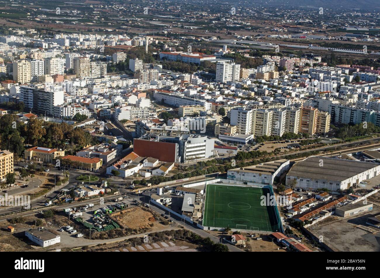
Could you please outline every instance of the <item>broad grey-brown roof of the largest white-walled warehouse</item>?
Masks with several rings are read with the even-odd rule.
[[[321,161],[323,166],[320,166]],[[305,160],[294,164],[287,176],[302,178],[323,178],[332,181],[343,181],[357,174],[365,172],[378,163],[344,160],[340,158],[329,158],[322,156],[310,156]]]

